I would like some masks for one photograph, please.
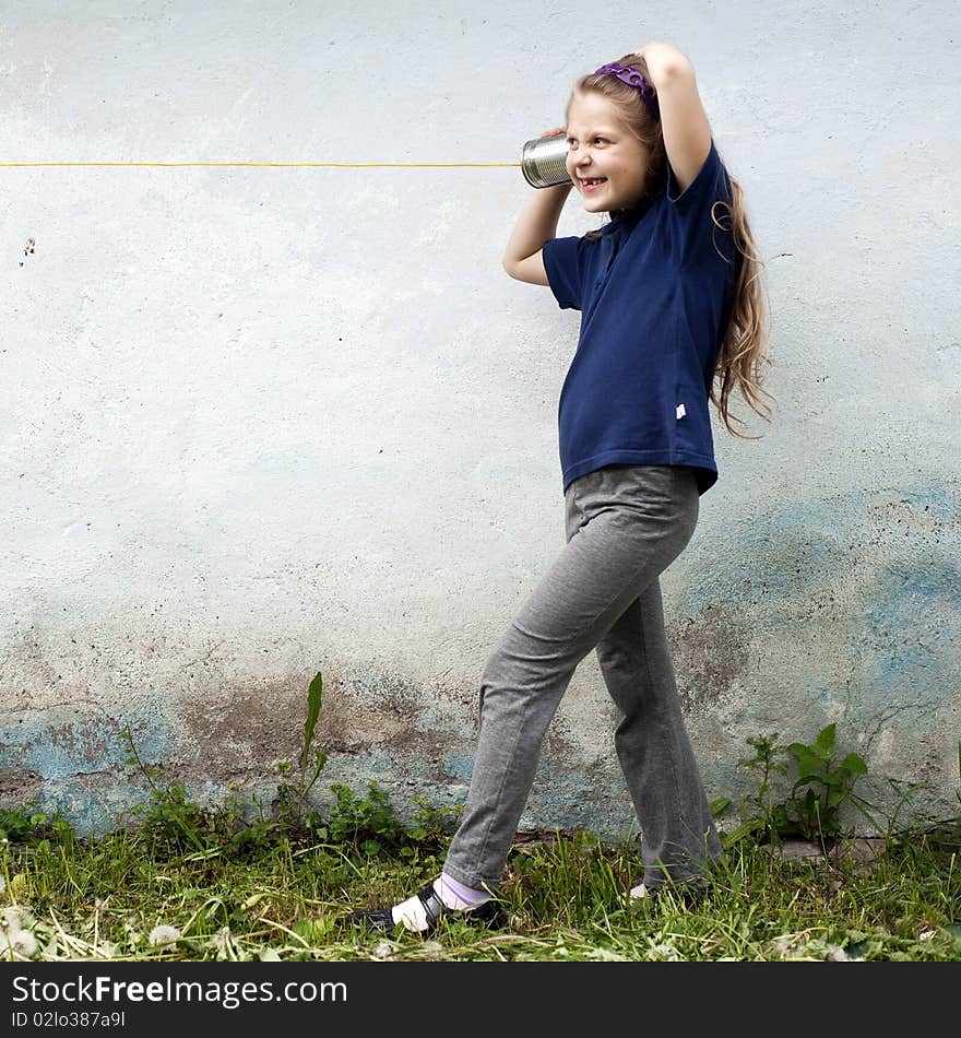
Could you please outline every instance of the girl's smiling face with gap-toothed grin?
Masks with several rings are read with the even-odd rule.
[[[644,193],[650,149],[601,94],[580,94],[568,110],[567,172],[589,213],[631,209]],[[585,182],[586,180],[586,182]],[[595,186],[592,180],[600,180]]]

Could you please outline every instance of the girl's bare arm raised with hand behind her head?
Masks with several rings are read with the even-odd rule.
[[[683,192],[700,173],[711,151],[711,125],[698,93],[695,67],[669,44],[645,44],[636,54],[646,62],[657,91],[664,150]]]

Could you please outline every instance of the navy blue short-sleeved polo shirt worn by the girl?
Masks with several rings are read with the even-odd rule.
[[[700,494],[716,483],[708,405],[739,255],[712,223],[715,201],[729,202],[731,186],[712,140],[679,197],[668,164],[666,192],[615,215],[600,239],[545,243],[558,305],[581,311],[558,405],[565,491],[610,464],[691,465]],[[729,225],[725,208],[716,216]]]

